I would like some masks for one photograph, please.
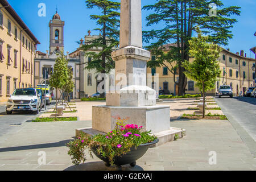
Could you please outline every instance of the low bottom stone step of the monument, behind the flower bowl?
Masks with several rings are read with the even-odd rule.
[[[175,135],[178,135],[179,138],[183,138],[183,137],[185,137],[185,131],[186,130],[178,129],[176,127],[170,127],[166,131],[155,133],[154,135],[156,137],[158,137],[159,142],[151,147],[156,147],[156,146],[160,146],[164,143],[171,142],[171,141],[175,140]],[[97,135],[97,134],[106,134],[104,132],[94,130],[94,129],[92,129],[92,127],[87,127],[84,129],[76,129],[76,138],[79,137],[80,132],[85,133],[86,135],[88,135],[88,137],[91,137],[92,135]]]

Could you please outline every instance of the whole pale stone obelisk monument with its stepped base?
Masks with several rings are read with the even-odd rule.
[[[159,144],[173,139],[180,129],[170,127],[170,106],[156,105],[156,92],[146,86],[150,52],[142,48],[141,0],[121,0],[120,47],[112,52],[115,61],[115,85],[106,93],[106,105],[92,107],[92,128],[77,129],[92,135],[108,133],[115,127],[114,115],[129,117],[127,124],[143,126],[159,137]],[[122,79],[120,79],[122,77]]]

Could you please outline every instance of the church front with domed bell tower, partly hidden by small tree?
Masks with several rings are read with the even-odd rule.
[[[57,53],[64,52],[64,25],[65,22],[61,20],[60,15],[57,13],[53,15],[49,22],[49,51],[46,53],[36,51],[35,56],[35,75],[34,85],[49,84],[49,78],[57,58]],[[68,55],[68,67],[73,71],[73,82],[75,87],[73,92],[69,93],[71,99],[79,98],[80,92],[80,59],[79,57],[69,59]],[[57,94],[60,96],[60,93]],[[56,90],[53,90],[53,99],[55,99]]]

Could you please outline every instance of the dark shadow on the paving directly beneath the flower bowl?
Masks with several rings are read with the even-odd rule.
[[[104,162],[88,162],[68,167],[64,171],[119,171],[119,169],[116,166],[106,167]],[[127,164],[122,166],[122,171],[144,171],[144,169],[138,165],[131,167]]]

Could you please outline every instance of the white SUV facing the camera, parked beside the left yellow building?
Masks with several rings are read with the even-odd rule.
[[[38,114],[41,110],[41,99],[34,88],[15,89],[6,104],[6,114],[13,111],[33,111]]]

